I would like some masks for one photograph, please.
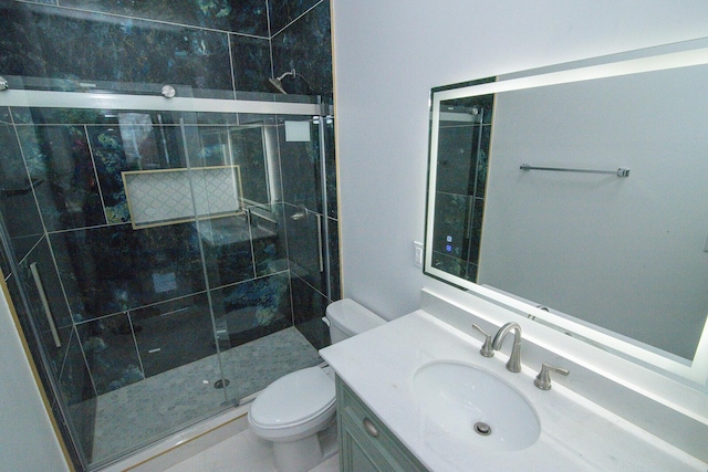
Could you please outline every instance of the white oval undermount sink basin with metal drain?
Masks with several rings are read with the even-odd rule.
[[[517,451],[533,444],[541,433],[525,398],[476,367],[427,364],[416,371],[413,384],[430,445]]]

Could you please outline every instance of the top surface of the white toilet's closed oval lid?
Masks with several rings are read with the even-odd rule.
[[[263,428],[295,426],[334,405],[334,381],[320,367],[309,367],[272,382],[251,405],[251,420]]]

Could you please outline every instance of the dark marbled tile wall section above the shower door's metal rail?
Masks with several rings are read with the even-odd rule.
[[[226,97],[271,93],[268,77],[295,67],[311,90],[292,92],[332,95],[327,0],[43,3],[0,6],[4,76],[69,90],[79,81],[188,85],[194,96]]]

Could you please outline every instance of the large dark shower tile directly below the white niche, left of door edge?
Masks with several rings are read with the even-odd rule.
[[[205,290],[194,223],[133,230],[119,224],[51,234],[76,319]]]

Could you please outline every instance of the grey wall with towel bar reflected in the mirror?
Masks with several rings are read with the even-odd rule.
[[[693,359],[708,312],[708,101],[691,84],[706,81],[697,66],[498,94],[479,283]]]

